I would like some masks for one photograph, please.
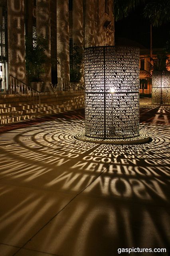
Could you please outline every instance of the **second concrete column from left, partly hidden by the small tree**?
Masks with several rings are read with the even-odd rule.
[[[50,28],[50,0],[37,0],[36,25],[37,35],[43,36],[48,41],[48,49],[45,54],[48,61],[45,63],[45,75],[43,80],[45,84],[51,83],[51,28]]]

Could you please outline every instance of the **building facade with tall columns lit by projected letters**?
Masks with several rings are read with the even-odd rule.
[[[113,0],[0,0],[0,76],[28,83],[26,38],[43,36],[45,84],[70,81],[73,47],[114,45]]]

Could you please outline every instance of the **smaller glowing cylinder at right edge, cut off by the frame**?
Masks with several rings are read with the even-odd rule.
[[[170,104],[170,72],[152,72],[152,104]]]

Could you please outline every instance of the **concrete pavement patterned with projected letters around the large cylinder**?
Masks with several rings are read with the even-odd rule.
[[[75,140],[83,110],[2,127],[0,256],[168,256],[169,114],[140,101],[142,145]]]

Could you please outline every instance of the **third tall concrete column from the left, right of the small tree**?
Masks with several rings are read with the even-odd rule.
[[[58,78],[69,80],[69,7],[68,0],[57,0]]]

